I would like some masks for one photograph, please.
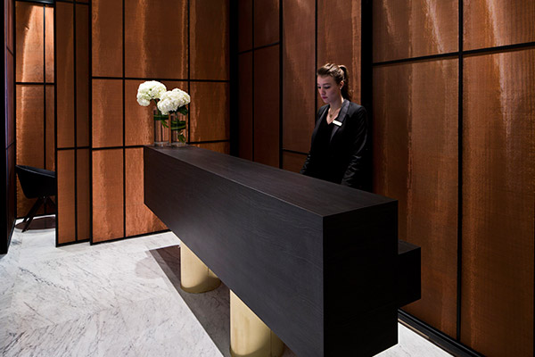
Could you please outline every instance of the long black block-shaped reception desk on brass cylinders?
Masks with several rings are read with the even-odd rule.
[[[397,343],[397,201],[187,145],[144,147],[144,203],[297,355]]]

